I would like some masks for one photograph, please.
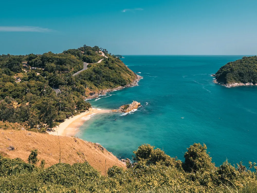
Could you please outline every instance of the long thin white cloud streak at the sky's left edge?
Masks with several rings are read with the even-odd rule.
[[[0,26],[0,31],[5,32],[50,32],[53,31],[48,28],[34,27],[34,26]]]

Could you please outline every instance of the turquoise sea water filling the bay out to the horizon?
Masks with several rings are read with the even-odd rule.
[[[141,72],[139,86],[88,101],[102,109],[133,100],[143,106],[127,115],[95,115],[80,127],[79,138],[118,158],[131,159],[133,150],[148,143],[183,161],[187,147],[205,143],[216,165],[257,161],[257,86],[226,88],[210,76],[242,56],[124,57],[125,65]]]

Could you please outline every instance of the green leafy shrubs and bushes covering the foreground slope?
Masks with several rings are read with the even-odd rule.
[[[35,161],[36,154],[32,153],[31,160]],[[235,166],[227,160],[216,166],[205,144],[191,145],[183,162],[149,144],[139,146],[133,153],[135,162],[127,162],[126,170],[113,166],[106,176],[86,161],[44,168],[0,154],[0,192],[257,192],[257,175],[251,171],[257,170],[256,163],[249,162],[250,169],[242,162]]]

